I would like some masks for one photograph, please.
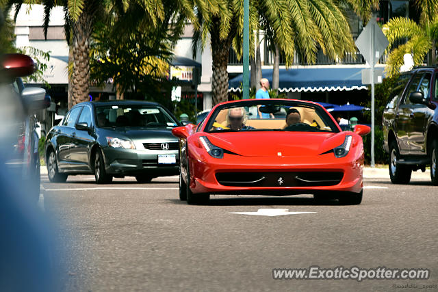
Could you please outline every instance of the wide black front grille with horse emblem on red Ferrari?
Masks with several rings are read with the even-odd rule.
[[[337,185],[342,172],[218,172],[220,185],[228,187],[323,187]]]

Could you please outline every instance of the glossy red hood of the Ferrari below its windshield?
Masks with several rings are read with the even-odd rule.
[[[238,132],[211,133],[208,138],[212,144],[242,156],[292,157],[320,155],[341,145],[345,136],[346,132]]]

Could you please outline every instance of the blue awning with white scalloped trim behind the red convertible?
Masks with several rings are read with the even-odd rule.
[[[326,92],[368,89],[362,84],[363,68],[298,68],[280,69],[280,92]],[[261,70],[272,84],[272,69]],[[240,91],[243,75],[229,81],[229,91]]]

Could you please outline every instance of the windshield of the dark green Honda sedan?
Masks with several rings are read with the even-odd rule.
[[[101,105],[96,107],[98,127],[176,127],[177,121],[153,105]]]

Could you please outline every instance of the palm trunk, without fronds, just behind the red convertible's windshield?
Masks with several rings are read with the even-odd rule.
[[[213,59],[213,74],[211,86],[213,91],[213,105],[228,101],[228,57],[232,38],[221,40],[219,36],[219,19],[213,19],[211,28],[211,57]]]

